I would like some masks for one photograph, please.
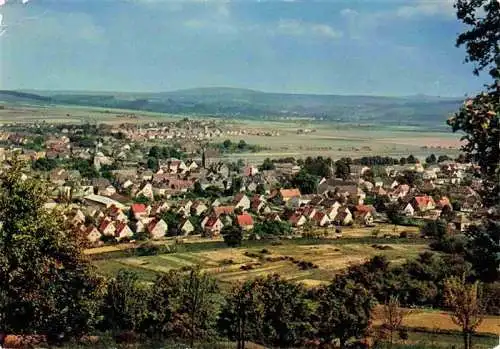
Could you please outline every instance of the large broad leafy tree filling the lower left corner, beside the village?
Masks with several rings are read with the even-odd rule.
[[[46,184],[23,180],[23,167],[0,175],[0,329],[67,340],[95,325],[103,282],[62,214],[44,208]]]

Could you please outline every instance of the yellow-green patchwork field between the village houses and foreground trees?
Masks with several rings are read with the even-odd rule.
[[[389,260],[402,262],[427,249],[420,240],[415,243],[410,240],[397,243],[394,240],[297,239],[283,241],[280,245],[249,243],[240,248],[220,246],[220,242],[212,246],[190,243],[175,253],[143,257],[123,255],[95,260],[94,263],[104,274],[114,275],[119,269],[127,269],[136,271],[146,281],[152,281],[159,273],[172,269],[199,265],[226,284],[278,273],[289,280],[315,286],[331,280],[339,270],[375,255],[382,254]],[[377,246],[373,247],[375,241]],[[313,266],[302,267],[300,262],[311,262]]]

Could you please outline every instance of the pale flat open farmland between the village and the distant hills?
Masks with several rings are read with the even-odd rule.
[[[133,117],[131,117],[133,116]],[[144,112],[137,110],[105,109],[98,107],[75,106],[29,106],[7,105],[0,109],[0,127],[2,123],[145,123],[151,121],[172,121],[185,115]],[[198,116],[191,118],[200,119]],[[234,131],[247,131],[241,135],[223,135],[213,139],[238,142],[244,140],[252,145],[259,145],[265,150],[256,153],[226,154],[224,160],[242,159],[250,164],[260,164],[265,158],[325,156],[358,158],[371,155],[407,157],[413,154],[426,157],[430,153],[456,156],[460,147],[459,136],[445,126],[401,126],[375,124],[349,124],[334,121],[311,120],[225,120],[225,127]],[[308,133],[297,133],[310,130]],[[279,135],[264,136],[270,131]]]

